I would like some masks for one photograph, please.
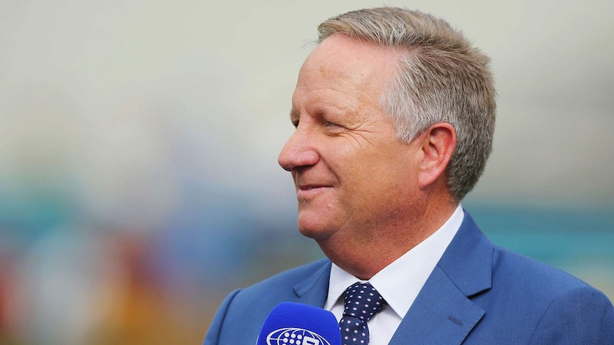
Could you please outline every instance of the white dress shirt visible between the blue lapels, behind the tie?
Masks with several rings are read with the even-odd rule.
[[[387,302],[368,322],[370,345],[387,345],[390,342],[435,265],[452,242],[463,218],[464,212],[459,204],[441,228],[368,280]],[[364,282],[333,263],[324,309],[333,312],[337,322],[343,314],[343,292],[357,281]]]

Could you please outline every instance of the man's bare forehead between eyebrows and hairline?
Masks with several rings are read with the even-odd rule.
[[[400,53],[339,34],[322,41],[298,74],[293,113],[313,102],[356,107],[378,102],[398,64]]]

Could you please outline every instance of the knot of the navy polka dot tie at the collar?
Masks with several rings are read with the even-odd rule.
[[[377,314],[384,306],[386,301],[382,298],[378,290],[368,282],[356,282],[345,289],[343,315],[356,317],[368,322],[373,315]]]

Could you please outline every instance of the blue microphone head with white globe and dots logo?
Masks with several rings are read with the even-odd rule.
[[[341,345],[341,332],[328,310],[283,302],[266,317],[256,345]]]

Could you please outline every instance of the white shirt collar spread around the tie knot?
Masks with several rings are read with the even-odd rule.
[[[441,228],[369,280],[399,317],[407,314],[433,268],[452,242],[463,218],[464,212],[459,204]],[[324,309],[333,309],[345,289],[357,281],[364,282],[333,262]]]

